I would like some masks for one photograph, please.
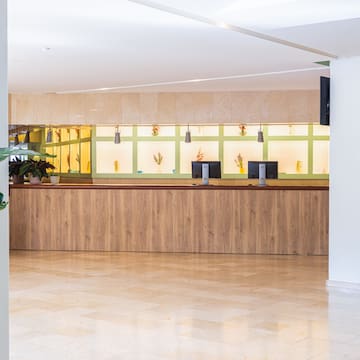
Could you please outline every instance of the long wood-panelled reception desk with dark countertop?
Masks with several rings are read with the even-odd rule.
[[[328,253],[328,187],[11,185],[12,249]]]

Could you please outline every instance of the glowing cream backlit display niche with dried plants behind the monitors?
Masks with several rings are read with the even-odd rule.
[[[94,128],[93,177],[189,178],[191,161],[220,160],[223,178],[246,178],[248,161],[277,160],[279,178],[328,178],[329,128],[320,125],[262,125],[264,143],[259,125],[190,125],[191,143],[187,126],[120,126],[120,144],[114,129]]]

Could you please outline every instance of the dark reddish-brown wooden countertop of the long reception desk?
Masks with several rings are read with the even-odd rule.
[[[10,189],[79,189],[79,190],[329,190],[328,186],[257,186],[257,185],[172,185],[172,184],[10,184]]]

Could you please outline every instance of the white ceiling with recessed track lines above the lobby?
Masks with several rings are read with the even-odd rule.
[[[359,0],[8,0],[8,8],[10,92],[316,89],[328,68],[315,62],[332,58],[323,53],[360,55]]]

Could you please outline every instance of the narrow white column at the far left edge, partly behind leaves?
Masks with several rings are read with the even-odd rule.
[[[7,0],[0,0],[0,147],[8,146]],[[8,163],[0,162],[0,192],[8,199]],[[0,359],[9,359],[9,213],[0,210]]]

